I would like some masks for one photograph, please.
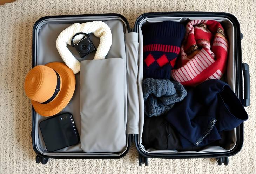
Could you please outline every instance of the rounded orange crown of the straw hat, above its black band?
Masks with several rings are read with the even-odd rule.
[[[28,98],[41,103],[52,97],[56,85],[56,72],[45,65],[38,65],[28,72],[24,88]]]

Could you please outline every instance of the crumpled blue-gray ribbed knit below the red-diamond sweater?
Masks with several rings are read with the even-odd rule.
[[[149,117],[165,114],[187,95],[182,84],[166,79],[146,78],[142,82],[142,88],[144,112]]]

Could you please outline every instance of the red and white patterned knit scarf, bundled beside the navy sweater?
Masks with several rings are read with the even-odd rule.
[[[192,20],[186,25],[185,40],[174,80],[195,86],[208,79],[220,79],[225,72],[229,43],[221,24],[213,20]]]

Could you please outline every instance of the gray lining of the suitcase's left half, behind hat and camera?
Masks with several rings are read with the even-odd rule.
[[[49,62],[59,61],[63,62],[61,59],[55,42],[61,31],[69,27],[73,23],[79,22],[88,22],[93,20],[99,20],[105,22],[112,31],[112,46],[109,50],[109,53],[106,56],[108,58],[123,58],[126,59],[125,45],[124,45],[124,33],[127,33],[127,25],[122,18],[116,16],[89,16],[89,17],[63,17],[63,18],[50,18],[40,22],[36,27],[36,36],[35,36],[35,65],[44,65]],[[122,37],[123,36],[123,37]],[[99,38],[94,35],[90,36],[95,47],[99,45]],[[92,60],[94,58],[95,52],[90,53],[86,58],[81,59],[79,54],[76,52],[75,48],[68,46],[70,51],[73,53],[75,58],[79,61],[82,60]],[[126,61],[124,61],[126,62]],[[126,65],[125,65],[126,66]],[[73,115],[76,128],[80,135],[81,130],[81,120],[80,120],[80,73],[75,75],[76,78],[76,87],[75,92],[70,100],[69,104],[61,111],[60,113],[70,112]],[[126,88],[126,85],[125,85]],[[125,89],[126,91],[126,89]],[[127,95],[125,94],[125,97]],[[125,98],[125,102],[127,102]],[[127,104],[125,104],[125,124],[127,116]],[[42,139],[40,129],[38,127],[39,122],[45,120],[46,118],[36,114],[36,147],[37,149],[45,155],[52,156],[119,156],[124,153],[128,147],[128,136],[126,136],[126,147],[120,153],[84,153],[81,149],[81,144],[74,146],[66,147],[64,149],[48,152],[46,150],[45,144]],[[125,129],[125,127],[124,127]],[[65,152],[65,153],[64,153]]]

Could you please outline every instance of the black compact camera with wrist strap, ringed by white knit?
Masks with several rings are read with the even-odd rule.
[[[73,44],[73,39],[77,35],[85,35],[80,41],[77,43]],[[81,58],[84,58],[86,55],[89,53],[93,52],[96,50],[95,46],[93,45],[92,40],[89,38],[89,34],[86,33],[76,33],[72,39],[71,39],[71,46],[75,47],[76,50],[78,51],[79,55]]]

